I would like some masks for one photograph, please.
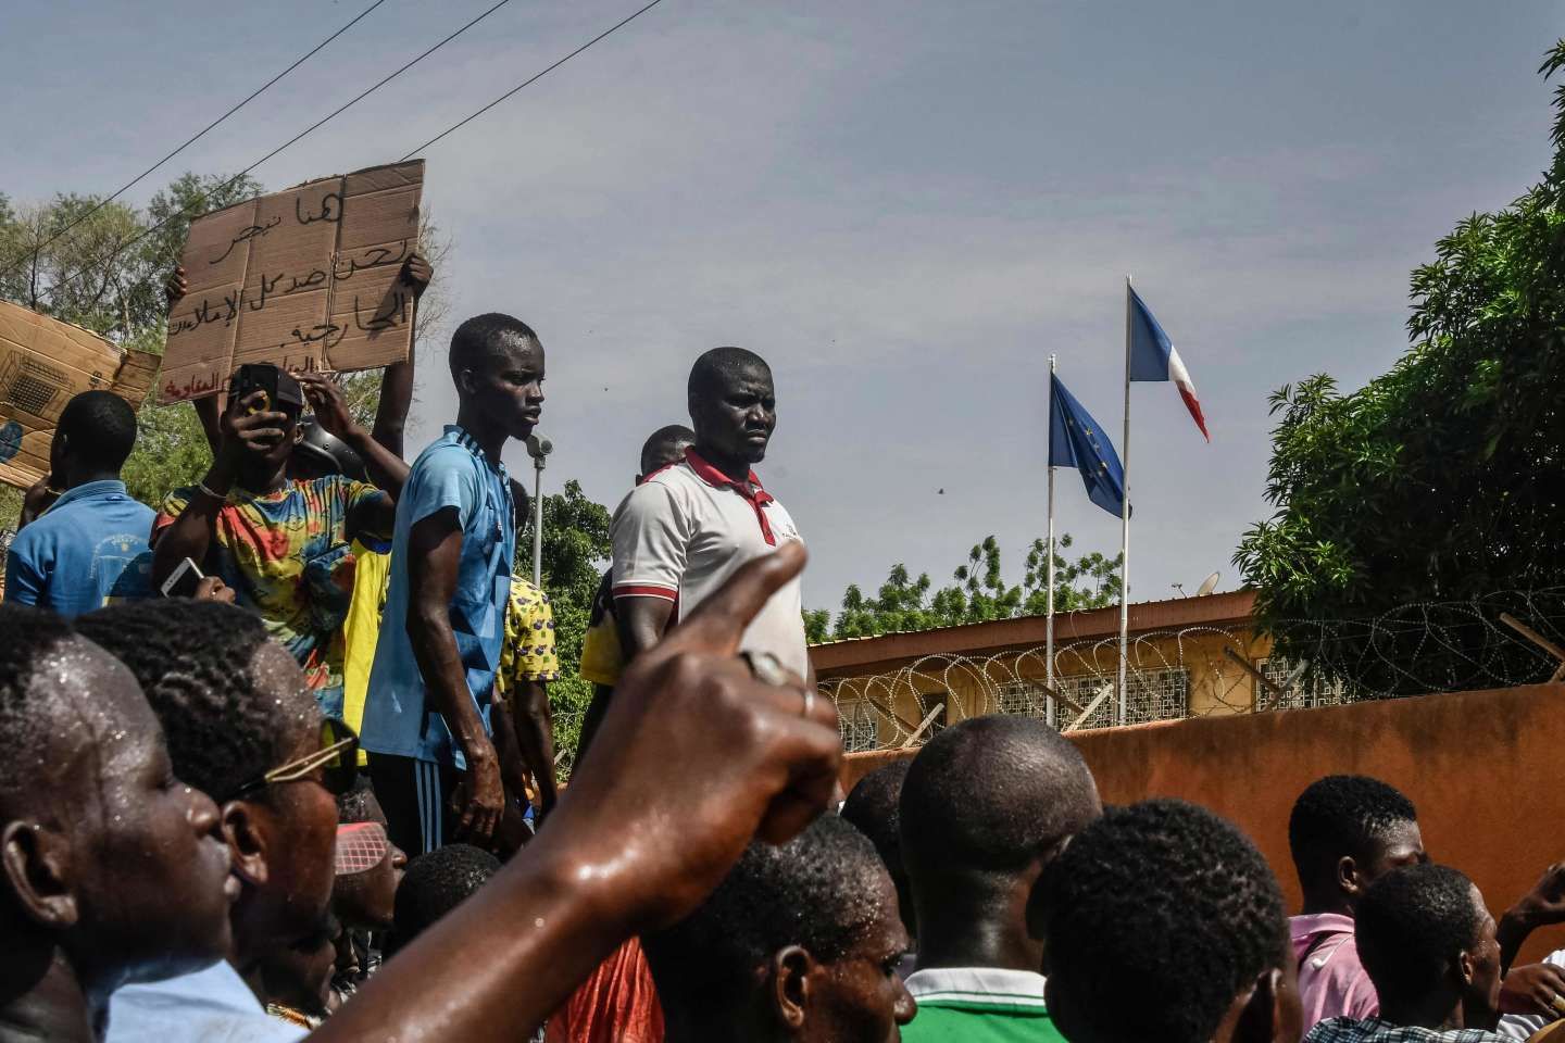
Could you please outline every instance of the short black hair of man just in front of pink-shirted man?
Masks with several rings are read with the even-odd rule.
[[[1473,880],[1451,866],[1405,866],[1371,884],[1354,915],[1354,935],[1380,1004],[1438,988],[1457,954],[1477,944],[1482,918]]]

